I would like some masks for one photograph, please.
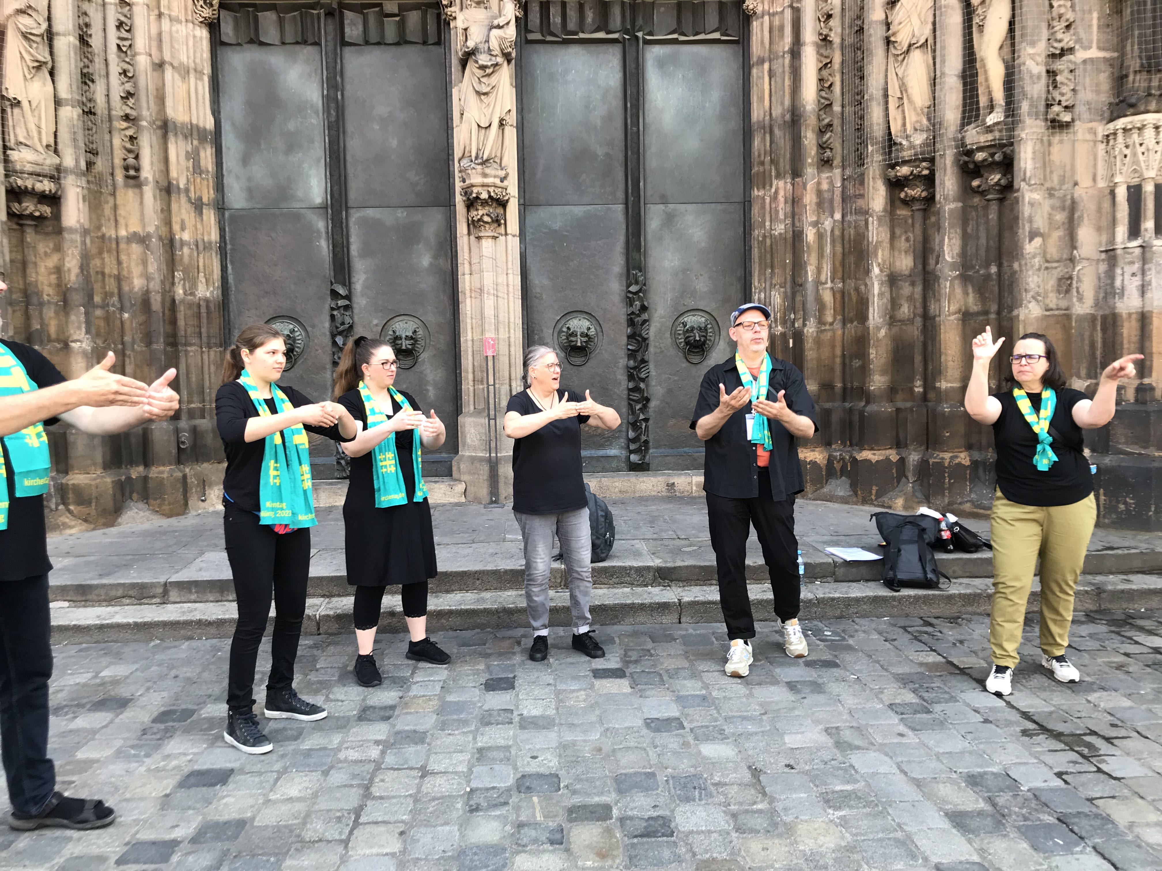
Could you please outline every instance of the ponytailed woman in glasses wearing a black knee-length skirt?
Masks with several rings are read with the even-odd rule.
[[[395,389],[397,370],[390,345],[360,336],[343,350],[335,373],[336,399],[364,425],[358,438],[343,446],[352,458],[343,521],[347,583],[356,588],[354,675],[364,686],[382,683],[372,647],[388,585],[400,584],[411,635],[407,657],[435,665],[451,660],[428,638],[436,541],[419,462],[421,446],[444,444],[444,424],[435,411],[424,417],[414,396]]]

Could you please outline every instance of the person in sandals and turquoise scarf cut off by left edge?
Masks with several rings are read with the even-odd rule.
[[[103,801],[58,792],[49,758],[52,564],[43,499],[51,470],[44,424],[113,436],[178,410],[174,369],[143,384],[109,372],[113,362],[109,353],[66,381],[36,348],[0,341],[0,750],[14,829],[96,829],[116,818]]]

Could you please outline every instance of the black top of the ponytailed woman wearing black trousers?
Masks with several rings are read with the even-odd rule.
[[[314,401],[295,390],[293,387],[278,386],[292,405],[311,405]],[[278,413],[274,398],[266,401],[266,408],[272,415]],[[214,397],[214,413],[217,416],[218,436],[225,449],[225,476],[222,478],[222,491],[228,502],[232,502],[245,511],[258,511],[258,482],[263,474],[263,451],[266,439],[246,441],[246,422],[258,417],[250,395],[237,381],[222,384]],[[307,432],[324,436],[335,441],[351,441],[339,434],[339,425],[320,427],[303,426]],[[228,502],[223,502],[225,505]]]

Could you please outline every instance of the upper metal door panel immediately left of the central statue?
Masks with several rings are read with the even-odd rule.
[[[347,206],[449,206],[442,45],[343,49]]]

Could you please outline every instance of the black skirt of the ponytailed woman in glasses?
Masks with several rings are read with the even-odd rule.
[[[392,508],[343,506],[347,583],[415,584],[436,577],[436,540],[428,499]]]

